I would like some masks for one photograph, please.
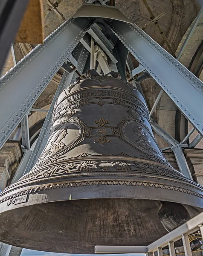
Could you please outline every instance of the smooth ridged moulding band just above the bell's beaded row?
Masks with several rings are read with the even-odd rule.
[[[173,171],[176,171],[175,169],[173,169]],[[29,174],[29,173],[28,173]],[[124,175],[124,176],[123,176]],[[180,175],[182,175],[180,173]],[[183,177],[185,177],[183,175]],[[153,183],[153,182],[158,182],[158,184],[163,184],[163,185],[168,185],[168,186],[175,186],[175,184],[180,184],[183,187],[183,189],[189,189],[192,192],[197,192],[199,194],[201,194],[203,196],[203,186],[199,185],[198,183],[195,183],[193,180],[190,180],[185,177],[187,180],[179,180],[175,177],[168,177],[168,176],[160,176],[160,175],[148,175],[148,174],[133,174],[133,173],[128,173],[126,175],[123,174],[122,172],[93,172],[93,173],[78,173],[78,174],[68,174],[67,176],[64,177],[44,177],[41,180],[31,180],[29,182],[26,182],[24,184],[18,184],[17,187],[13,186],[12,188],[10,188],[10,186],[6,187],[1,193],[0,193],[0,204],[1,204],[1,197],[4,196],[4,198],[6,197],[6,195],[8,196],[8,194],[14,194],[15,191],[23,191],[26,190],[26,187],[30,187],[30,186],[35,186],[35,187],[40,187],[40,186],[45,186],[47,183],[48,184],[62,184],[62,183],[77,183],[77,182],[87,182],[87,181],[103,181],[103,180],[109,180],[109,181],[114,181],[114,180],[120,180],[120,181],[128,181],[128,182],[147,182],[147,183]],[[18,181],[17,181],[18,182]],[[16,182],[16,183],[17,183]],[[169,183],[169,184],[168,184]],[[174,184],[171,184],[174,183]],[[15,185],[15,183],[13,183],[12,185]],[[185,188],[186,186],[186,188]]]

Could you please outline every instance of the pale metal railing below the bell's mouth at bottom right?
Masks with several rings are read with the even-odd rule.
[[[162,248],[169,248],[169,255],[175,256],[174,242],[182,239],[183,248],[186,256],[192,256],[189,235],[200,230],[203,236],[203,212],[195,216],[191,220],[187,221],[185,224],[181,225],[177,229],[171,231],[170,233],[162,236],[157,241],[149,244],[148,246],[105,246],[96,245],[95,253],[106,254],[106,253],[146,253],[148,256],[158,253],[158,256],[163,256]]]

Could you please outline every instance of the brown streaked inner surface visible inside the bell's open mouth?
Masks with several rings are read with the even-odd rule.
[[[56,201],[0,214],[0,240],[18,247],[93,254],[95,245],[145,246],[167,233],[155,200]]]

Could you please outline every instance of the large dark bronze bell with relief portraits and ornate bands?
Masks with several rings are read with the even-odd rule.
[[[203,188],[154,140],[141,93],[93,76],[61,93],[38,163],[0,194],[0,241],[63,253],[142,246],[202,208]]]

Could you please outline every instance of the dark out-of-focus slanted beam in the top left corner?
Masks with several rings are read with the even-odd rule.
[[[0,1],[0,71],[20,26],[29,0]]]

